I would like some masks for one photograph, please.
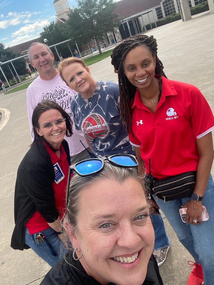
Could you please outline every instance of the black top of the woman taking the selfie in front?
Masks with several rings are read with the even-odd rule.
[[[74,261],[72,253],[66,255],[66,261],[63,260],[54,265],[40,285],[100,285],[86,274],[79,261]],[[108,285],[114,285],[114,283]],[[153,255],[149,260],[146,279],[142,285],[163,285],[158,264]]]

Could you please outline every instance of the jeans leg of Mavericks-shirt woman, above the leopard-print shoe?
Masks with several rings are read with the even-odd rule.
[[[169,238],[166,234],[163,219],[161,215],[150,214],[153,229],[155,232],[155,250],[169,247]]]

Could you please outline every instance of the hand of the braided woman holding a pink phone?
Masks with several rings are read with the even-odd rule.
[[[202,203],[201,201],[193,201],[189,200],[187,203],[181,206],[182,208],[187,207],[187,216],[186,216],[186,224],[191,223],[192,225],[197,226],[198,223],[203,223],[202,221]],[[197,222],[195,222],[195,221]]]

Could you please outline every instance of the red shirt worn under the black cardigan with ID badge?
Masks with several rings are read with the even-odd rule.
[[[60,158],[48,146],[45,146],[45,148],[51,157],[53,165],[56,164],[56,162],[58,162],[65,176],[64,179],[60,181],[58,184],[56,184],[55,181],[52,184],[54,191],[54,198],[55,198],[55,206],[56,209],[59,211],[60,219],[62,219],[65,213],[65,195],[66,195],[68,170],[69,170],[67,156],[62,144],[60,146],[60,149],[62,150],[60,151]],[[39,231],[44,231],[45,229],[48,229],[50,227],[49,224],[45,221],[45,219],[37,211],[27,221],[25,226],[27,227],[30,235],[33,235],[34,233],[37,233]]]

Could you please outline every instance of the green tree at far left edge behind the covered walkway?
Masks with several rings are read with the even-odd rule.
[[[0,42],[0,61],[1,62],[5,62],[5,61],[8,61],[10,59],[22,56],[22,55],[23,54],[20,52],[14,52],[12,50],[12,48],[10,48],[10,47],[5,48],[5,45],[2,42]],[[21,58],[19,60],[13,61],[13,65],[14,65],[14,67],[15,67],[15,69],[19,75],[26,74],[26,64],[27,64],[27,62],[26,62],[25,58]],[[16,75],[15,71],[14,71],[14,69],[10,63],[9,63],[9,66],[10,66],[13,74]],[[7,77],[8,80],[13,79],[13,75],[11,74],[11,71],[9,70],[7,64],[3,65],[1,68],[2,68],[2,70],[3,70],[5,76]],[[0,79],[1,79],[1,81],[5,81],[5,78],[1,74],[1,72],[0,72]]]

